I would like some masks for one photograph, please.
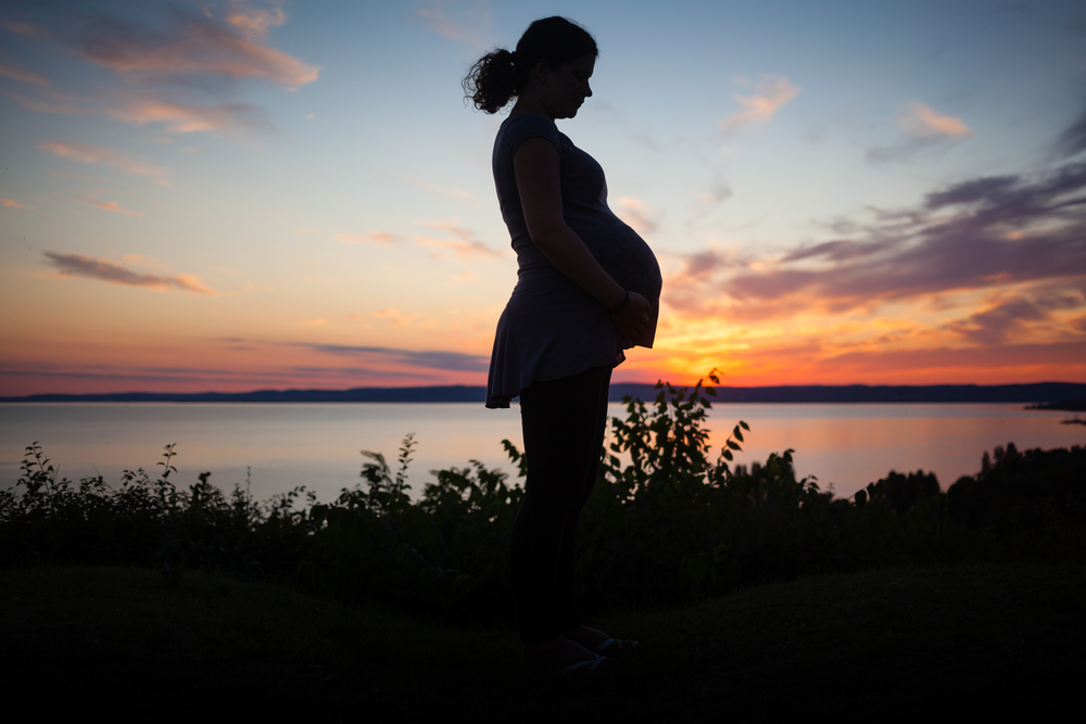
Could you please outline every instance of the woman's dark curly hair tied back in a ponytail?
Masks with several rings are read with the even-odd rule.
[[[541,58],[557,69],[598,54],[595,39],[583,27],[565,17],[544,17],[528,26],[515,52],[500,48],[480,58],[460,85],[477,109],[497,113],[528,86],[528,74]]]

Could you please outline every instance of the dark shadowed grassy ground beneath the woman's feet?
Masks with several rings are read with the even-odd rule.
[[[325,721],[1060,720],[1086,668],[1086,570],[830,575],[594,622],[642,640],[527,685],[507,628],[460,631],[270,585],[134,569],[0,572],[5,711]]]

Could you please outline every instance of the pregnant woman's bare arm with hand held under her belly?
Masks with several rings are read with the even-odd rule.
[[[530,138],[513,156],[528,233],[543,255],[597,302],[614,309],[622,304],[626,290],[611,279],[561,214],[558,149],[545,138]],[[618,331],[635,338],[648,326],[648,301],[630,292],[630,303],[611,315]]]

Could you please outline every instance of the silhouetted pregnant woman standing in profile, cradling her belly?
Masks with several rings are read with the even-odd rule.
[[[516,99],[493,168],[519,269],[487,406],[520,397],[528,480],[509,570],[522,663],[538,673],[595,669],[633,644],[582,625],[574,600],[577,520],[599,467],[611,369],[623,350],[653,346],[661,284],[652,250],[608,208],[603,168],[554,123],[592,96],[596,54],[584,28],[547,17],[464,80],[487,113]]]

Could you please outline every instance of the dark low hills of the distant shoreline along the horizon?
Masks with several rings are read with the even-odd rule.
[[[1082,410],[1086,383],[939,385],[781,385],[717,386],[718,403],[1018,403],[1035,409]],[[656,399],[655,384],[621,382],[610,388],[610,401],[623,396]],[[352,390],[257,390],[253,392],[155,393],[126,392],[92,395],[27,395],[0,397],[0,403],[479,403],[485,388],[441,385],[425,388],[354,388]]]

